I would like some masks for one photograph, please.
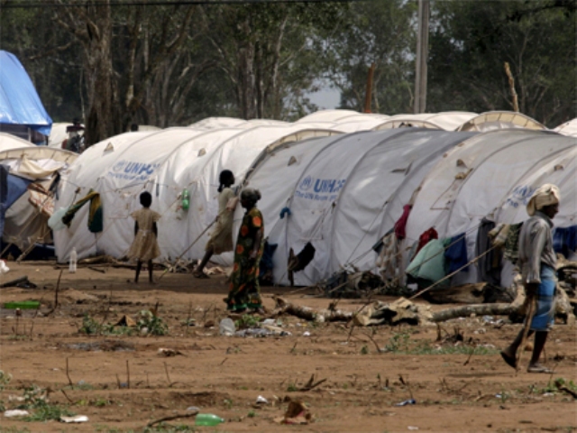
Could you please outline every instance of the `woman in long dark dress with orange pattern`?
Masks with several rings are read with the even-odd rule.
[[[238,231],[234,249],[234,268],[231,275],[226,308],[234,312],[247,309],[262,313],[259,264],[263,251],[264,223],[256,203],[261,199],[258,189],[243,189],[241,205],[246,209]]]

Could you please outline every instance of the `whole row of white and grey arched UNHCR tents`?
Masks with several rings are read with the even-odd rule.
[[[481,222],[524,220],[528,196],[543,183],[555,183],[562,191],[555,224],[575,226],[575,137],[536,127],[523,115],[484,116],[490,123],[484,132],[474,121],[479,116],[467,113],[422,115],[427,126],[410,116],[391,124],[387,116],[335,110],[292,124],[209,118],[183,128],[117,135],[58,170],[54,208],[67,209],[96,192],[103,220],[102,229],[91,232],[90,208],[80,208],[69,227],[54,232],[56,254],[66,262],[76,247],[79,257],[123,257],[133,240],[130,214],[148,190],[152,208],[162,216],[160,260],[174,261],[184,252],[188,261],[200,258],[210,233],[203,232],[217,213],[217,180],[224,169],[233,170],[243,187],[261,190],[265,235],[278,245],[272,261],[279,284],[289,282],[290,250],[298,253],[307,244],[315,254],[295,274],[298,285],[330,278],[350,265],[375,271],[373,246],[408,205],[406,236],[399,239],[401,273],[408,267],[410,246],[431,228],[440,238],[463,235],[468,257],[475,257]],[[185,189],[188,209],[182,207]],[[236,210],[236,224],[242,212]],[[230,264],[232,255],[215,259]],[[510,266],[503,272],[501,283],[508,284]],[[452,280],[482,278],[470,266]]]

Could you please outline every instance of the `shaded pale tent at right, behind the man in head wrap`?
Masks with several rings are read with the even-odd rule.
[[[408,218],[407,246],[434,227],[439,238],[466,234],[468,257],[475,255],[482,218],[498,221],[503,200],[524,177],[544,173],[547,161],[565,154],[574,141],[559,134],[523,129],[478,134],[454,147],[429,171]],[[539,176],[537,176],[539,178]],[[538,180],[535,180],[538,182]],[[567,180],[569,181],[569,180]],[[530,189],[517,189],[527,199]],[[563,207],[575,207],[575,195]],[[519,214],[519,217],[522,215]],[[453,284],[477,282],[474,266],[453,277]]]

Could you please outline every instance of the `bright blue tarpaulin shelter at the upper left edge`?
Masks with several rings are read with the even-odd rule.
[[[52,119],[20,60],[0,51],[0,124],[22,124],[50,135]]]

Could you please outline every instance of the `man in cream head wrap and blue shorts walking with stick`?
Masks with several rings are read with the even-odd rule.
[[[557,259],[553,250],[552,219],[559,212],[560,201],[561,195],[556,186],[545,184],[536,189],[527,203],[529,219],[521,226],[519,234],[517,264],[525,285],[527,303],[536,302],[528,334],[535,333],[533,355],[527,368],[529,373],[551,373],[551,370],[539,364],[539,357],[554,323]],[[517,368],[517,349],[522,343],[523,333],[524,329],[521,329],[513,343],[501,352],[503,360],[513,368]]]

